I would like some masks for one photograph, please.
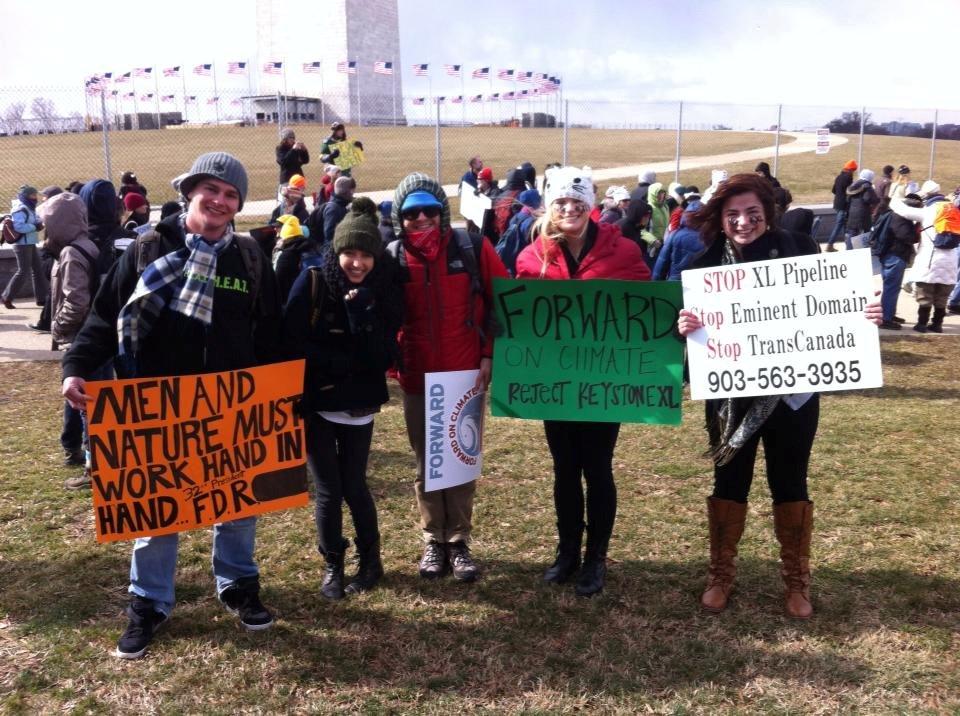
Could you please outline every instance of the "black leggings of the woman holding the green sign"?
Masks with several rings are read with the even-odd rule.
[[[579,542],[583,531],[583,485],[587,482],[587,549],[605,554],[617,516],[613,450],[620,423],[546,420],[547,445],[553,455],[553,502],[561,540]]]

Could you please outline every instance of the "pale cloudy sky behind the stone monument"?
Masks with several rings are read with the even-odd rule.
[[[425,62],[434,94],[459,94],[442,73],[458,63],[557,74],[568,98],[960,110],[960,0],[398,1],[406,95],[427,93],[411,69]],[[3,4],[0,88],[252,56],[253,0]],[[296,5],[322,13],[324,2]],[[323,38],[304,38],[291,61],[312,42]],[[487,91],[473,82],[468,94]]]

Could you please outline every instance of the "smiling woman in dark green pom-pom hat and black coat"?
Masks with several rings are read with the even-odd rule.
[[[367,487],[374,415],[389,400],[386,370],[397,357],[403,288],[383,251],[377,210],[358,197],[324,250],[322,267],[304,271],[283,316],[283,343],[305,358],[302,412],[307,460],[316,486],[320,593],[343,599],[373,589],[383,576],[377,508]],[[322,309],[322,310],[321,310]],[[360,565],[344,588],[343,503],[356,530]]]

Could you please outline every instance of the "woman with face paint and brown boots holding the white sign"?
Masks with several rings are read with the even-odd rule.
[[[809,236],[779,230],[774,225],[774,212],[773,188],[763,177],[729,177],[688,220],[688,225],[700,230],[706,246],[692,268],[818,253]],[[879,301],[868,304],[865,316],[880,323]],[[702,323],[696,314],[684,309],[677,326],[680,334],[687,336]],[[713,495],[707,498],[710,568],[700,604],[714,613],[727,606],[757,448],[763,442],[774,531],[780,543],[784,609],[790,617],[808,619],[813,614],[809,563],[813,502],[807,493],[807,467],[820,416],[819,395],[708,400],[706,413],[714,483]]]

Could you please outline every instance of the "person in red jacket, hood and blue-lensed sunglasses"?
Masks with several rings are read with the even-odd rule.
[[[506,277],[507,270],[493,244],[450,226],[447,195],[425,174],[410,174],[397,186],[393,230],[397,238],[387,251],[404,274],[398,378],[417,460],[414,485],[425,543],[420,576],[436,579],[452,569],[456,579],[472,582],[480,574],[469,546],[477,483],[425,489],[424,375],[479,369],[477,387],[487,390],[493,365],[493,279]]]

